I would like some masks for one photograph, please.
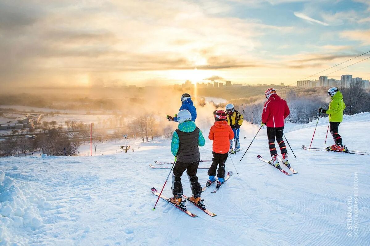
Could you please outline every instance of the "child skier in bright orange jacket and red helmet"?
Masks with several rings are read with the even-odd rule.
[[[208,135],[208,138],[213,140],[213,158],[212,165],[208,169],[209,180],[206,186],[208,187],[216,181],[216,169],[219,165],[217,170],[218,181],[216,183],[216,188],[218,188],[225,181],[225,162],[229,155],[229,141],[234,138],[234,132],[228,125],[225,111],[216,110],[213,114],[215,115],[215,124],[209,130]]]

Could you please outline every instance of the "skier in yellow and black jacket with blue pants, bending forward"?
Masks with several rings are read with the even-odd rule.
[[[228,114],[227,121],[229,126],[234,132],[234,142],[235,142],[235,149],[232,147],[232,140],[230,140],[230,149],[229,153],[235,154],[235,152],[240,151],[240,143],[239,143],[239,128],[243,124],[243,115],[240,112],[236,111],[234,105],[231,103],[226,105],[226,113]]]

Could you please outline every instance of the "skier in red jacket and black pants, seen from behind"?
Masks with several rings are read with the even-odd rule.
[[[289,107],[285,100],[277,96],[276,90],[273,88],[269,88],[265,91],[265,97],[267,101],[263,106],[262,125],[267,126],[267,138],[269,139],[269,148],[272,157],[269,163],[280,170],[282,169],[277,160],[278,155],[275,147],[276,138],[283,156],[282,162],[290,169],[287,150],[283,140],[284,120],[290,114]]]

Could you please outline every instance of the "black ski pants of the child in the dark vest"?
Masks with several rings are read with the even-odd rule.
[[[185,170],[188,174],[190,188],[194,197],[197,198],[201,196],[202,187],[201,184],[199,184],[198,182],[198,177],[196,177],[198,166],[199,160],[192,163],[183,163],[176,161],[175,167],[172,170],[172,195],[174,195],[175,198],[181,198],[182,196],[181,176]]]

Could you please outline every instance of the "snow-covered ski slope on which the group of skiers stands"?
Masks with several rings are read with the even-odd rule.
[[[312,146],[323,146],[327,120],[320,119]],[[157,197],[150,189],[161,189],[169,169],[149,164],[173,160],[166,140],[117,155],[1,158],[0,245],[369,245],[370,156],[303,150],[315,124],[286,125],[297,174],[286,176],[256,158],[269,157],[266,129],[242,162],[243,153],[233,157],[239,176],[228,159],[234,175],[218,193],[202,193],[215,217],[189,202],[197,218],[163,200],[152,211]],[[243,124],[242,148],[258,127]],[[209,127],[200,128],[208,135]],[[370,113],[345,116],[339,132],[350,149],[369,152]],[[327,145],[332,142],[329,133]],[[210,159],[211,141],[200,150]],[[205,184],[207,170],[198,177]],[[186,175],[182,181],[190,195]],[[164,194],[171,195],[170,183]]]

